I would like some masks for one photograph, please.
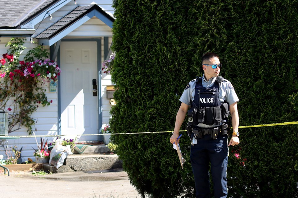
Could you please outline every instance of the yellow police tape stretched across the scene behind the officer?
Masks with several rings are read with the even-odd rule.
[[[250,128],[250,127],[269,127],[269,126],[278,126],[278,125],[290,125],[290,124],[298,124],[298,121],[295,122],[285,122],[285,123],[273,123],[273,124],[258,124],[258,125],[248,125],[248,126],[240,126],[238,128]],[[232,127],[231,127],[232,128]],[[183,132],[186,130],[181,130]],[[174,131],[154,131],[154,132],[135,132],[135,133],[111,133],[111,134],[81,134],[76,136],[105,136],[105,135],[131,135],[131,134],[146,134],[146,133],[169,133]],[[9,138],[21,138],[21,137],[62,137],[67,135],[41,135],[41,136],[0,136],[1,139],[9,139]]]

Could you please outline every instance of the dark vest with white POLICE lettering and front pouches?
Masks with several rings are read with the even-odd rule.
[[[192,127],[196,127],[200,123],[206,125],[227,123],[229,105],[219,101],[221,80],[222,77],[218,78],[212,87],[205,88],[202,85],[202,77],[196,78],[195,96],[191,108],[187,112],[188,123]]]

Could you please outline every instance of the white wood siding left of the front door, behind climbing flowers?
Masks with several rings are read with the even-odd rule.
[[[20,60],[22,60],[25,56],[25,54],[28,52],[28,50],[33,49],[36,44],[30,43],[30,38],[26,37],[27,41],[25,43],[25,46],[27,49],[25,49],[21,56]],[[5,47],[5,44],[10,40],[9,37],[1,37],[0,41],[0,57],[2,57],[2,54],[5,54],[7,52],[8,47]],[[48,46],[45,46],[48,48]],[[59,83],[59,82],[58,82]],[[49,92],[49,83],[46,83],[43,86],[44,89],[47,91],[46,96],[47,99],[53,102],[47,106],[43,107],[42,105],[39,105],[37,108],[37,111],[32,114],[32,117],[36,119],[36,123],[34,126],[32,126],[33,129],[37,129],[35,131],[35,135],[57,135],[57,123],[58,123],[58,100],[57,100],[57,92]],[[22,127],[20,130],[14,131],[9,134],[9,136],[27,136],[28,133],[26,132],[27,129],[25,127]],[[45,138],[45,140],[52,141],[54,137]],[[20,138],[20,139],[8,139],[8,149],[11,150],[12,146],[17,146],[17,149],[20,149],[23,147],[21,152],[21,157],[23,161],[26,161],[29,158],[33,159],[35,161],[35,158],[33,156],[34,149],[37,149],[35,138]],[[40,143],[40,138],[37,138],[38,144]],[[33,147],[33,148],[32,148]],[[0,147],[0,154],[5,156],[4,149]]]

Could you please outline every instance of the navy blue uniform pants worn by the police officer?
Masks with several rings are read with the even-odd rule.
[[[211,135],[197,139],[191,146],[190,160],[196,184],[196,198],[210,197],[209,162],[214,183],[214,197],[226,198],[228,167],[228,135],[218,134],[216,140]]]

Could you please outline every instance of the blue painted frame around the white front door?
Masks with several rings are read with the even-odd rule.
[[[101,98],[101,62],[102,62],[102,52],[101,52],[101,39],[62,39],[61,42],[63,41],[72,41],[72,42],[86,42],[86,41],[96,41],[97,43],[97,101],[98,101],[98,107],[97,107],[97,115],[98,115],[98,126],[97,126],[97,133],[101,133],[100,129],[102,127],[102,98]],[[58,66],[61,67],[60,65],[60,46],[58,50],[58,55],[57,55],[57,62]],[[60,76],[58,76],[58,82],[60,81]],[[58,122],[59,122],[59,127],[58,127],[58,133],[61,135],[61,89],[60,89],[60,83],[58,83]],[[97,136],[98,141],[103,141],[102,136]]]

